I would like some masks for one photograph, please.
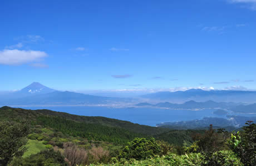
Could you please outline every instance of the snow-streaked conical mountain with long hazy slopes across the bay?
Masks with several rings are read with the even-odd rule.
[[[131,102],[131,98],[101,97],[50,89],[38,82],[0,96],[0,105],[99,105]]]

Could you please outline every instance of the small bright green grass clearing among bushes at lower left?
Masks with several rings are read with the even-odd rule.
[[[23,158],[28,157],[31,154],[37,154],[41,151],[46,150],[46,145],[42,143],[42,141],[29,139],[26,147],[28,148],[26,152],[23,154]]]

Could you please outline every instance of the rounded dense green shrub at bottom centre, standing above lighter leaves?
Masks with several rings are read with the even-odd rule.
[[[145,159],[161,153],[161,147],[154,138],[135,138],[122,149],[119,158]]]

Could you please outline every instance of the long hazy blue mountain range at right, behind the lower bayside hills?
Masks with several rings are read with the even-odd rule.
[[[142,95],[142,98],[155,101],[185,102],[185,101],[209,101],[215,102],[256,102],[256,91],[235,91],[235,90],[210,90],[190,89],[176,92],[156,92]]]

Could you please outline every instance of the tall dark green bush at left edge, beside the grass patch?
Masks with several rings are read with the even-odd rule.
[[[26,121],[0,122],[0,165],[7,165],[13,157],[21,156],[26,144],[29,125]]]

